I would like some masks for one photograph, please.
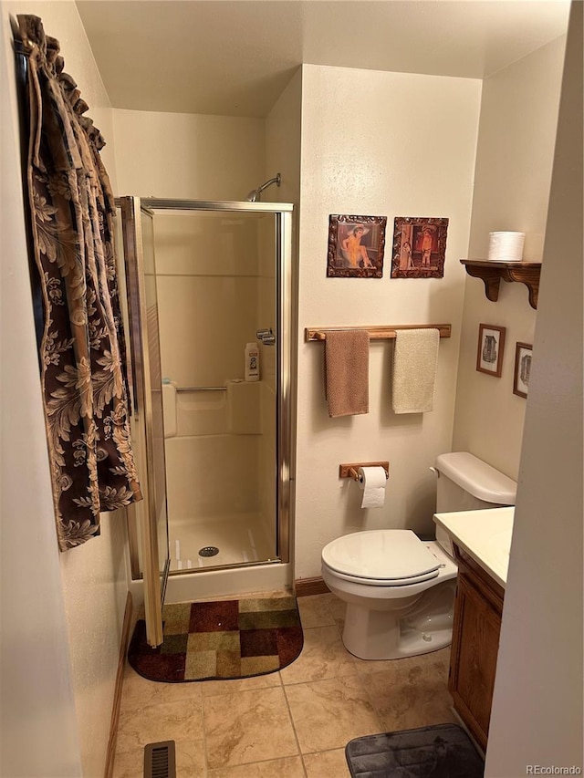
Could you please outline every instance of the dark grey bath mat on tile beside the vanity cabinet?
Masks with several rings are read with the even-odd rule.
[[[485,772],[473,742],[456,724],[355,738],[345,754],[353,778],[483,778]]]

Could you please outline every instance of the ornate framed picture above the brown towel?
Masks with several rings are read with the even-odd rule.
[[[386,216],[331,215],[328,222],[329,278],[381,278]]]

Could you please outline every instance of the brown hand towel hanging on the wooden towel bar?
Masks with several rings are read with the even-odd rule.
[[[325,394],[328,416],[369,412],[369,333],[330,330],[325,340]]]

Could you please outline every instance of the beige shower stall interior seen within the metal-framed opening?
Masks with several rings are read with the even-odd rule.
[[[276,215],[153,207],[171,573],[274,562]],[[256,381],[245,380],[250,342]]]

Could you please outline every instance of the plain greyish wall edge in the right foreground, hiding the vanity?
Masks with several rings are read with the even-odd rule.
[[[572,4],[485,776],[582,762],[582,4]]]

